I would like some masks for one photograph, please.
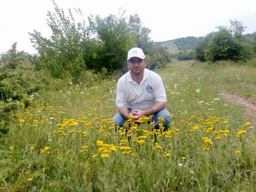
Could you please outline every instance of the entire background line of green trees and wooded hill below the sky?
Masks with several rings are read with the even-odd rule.
[[[35,70],[48,69],[53,78],[70,75],[78,82],[86,70],[106,75],[126,71],[126,55],[132,47],[142,48],[153,68],[165,67],[172,57],[199,61],[245,61],[255,57],[256,33],[242,35],[246,27],[241,21],[230,20],[229,27],[217,27],[218,31],[205,37],[174,39],[180,52],[169,54],[167,48],[150,39],[150,29],[142,25],[137,14],[125,17],[125,11],[120,11],[105,18],[90,15],[86,20],[80,9],[74,9],[81,18],[81,22],[76,22],[71,9],[66,14],[54,1],[53,4],[54,12],[47,14],[50,38],[38,31],[29,33],[39,57],[18,52],[14,43],[0,58],[1,64],[16,68],[28,62],[34,64]]]

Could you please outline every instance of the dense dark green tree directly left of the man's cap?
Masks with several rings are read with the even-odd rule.
[[[91,18],[90,23],[97,36],[93,49],[88,57],[87,54],[85,56],[88,69],[96,72],[100,72],[102,68],[109,72],[122,70],[126,65],[127,51],[135,45],[122,13],[106,18],[97,15]]]

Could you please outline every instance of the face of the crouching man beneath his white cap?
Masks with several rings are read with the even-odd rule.
[[[127,62],[128,68],[134,75],[143,74],[146,64],[146,59],[141,59],[139,57],[132,57]]]

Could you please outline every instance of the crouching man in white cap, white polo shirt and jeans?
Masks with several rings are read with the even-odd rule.
[[[142,116],[153,115],[155,128],[159,127],[159,117],[165,118],[163,126],[168,129],[172,122],[166,110],[166,92],[162,79],[155,72],[145,69],[145,54],[140,48],[132,48],[127,54],[129,71],[117,82],[116,107],[118,113],[113,117],[115,128],[123,127],[132,117],[137,122]]]

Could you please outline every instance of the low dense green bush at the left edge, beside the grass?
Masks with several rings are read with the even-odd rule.
[[[4,72],[1,72],[3,70]],[[12,120],[11,114],[19,107],[28,107],[34,99],[35,93],[44,90],[48,80],[43,75],[35,75],[35,71],[28,68],[22,70],[1,68],[0,70],[0,138],[9,130]],[[41,72],[42,73],[42,72]]]

